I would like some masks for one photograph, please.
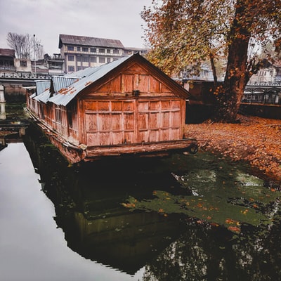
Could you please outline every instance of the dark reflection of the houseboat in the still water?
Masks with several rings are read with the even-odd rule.
[[[178,220],[122,206],[129,196],[142,200],[155,189],[169,191],[178,185],[169,172],[151,172],[154,159],[107,159],[70,167],[37,133],[31,126],[25,145],[72,250],[132,275],[180,235]]]

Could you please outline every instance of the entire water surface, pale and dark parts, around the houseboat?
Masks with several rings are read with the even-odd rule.
[[[218,156],[0,152],[0,280],[281,280],[279,186]]]

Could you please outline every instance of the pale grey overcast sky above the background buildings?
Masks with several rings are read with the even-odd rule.
[[[143,47],[143,6],[152,0],[0,0],[0,48],[8,32],[35,34],[44,53],[59,53],[59,34],[119,39]]]

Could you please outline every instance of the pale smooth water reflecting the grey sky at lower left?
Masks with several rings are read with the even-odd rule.
[[[23,143],[0,152],[0,178],[1,280],[138,280],[67,247]]]

